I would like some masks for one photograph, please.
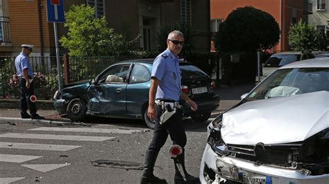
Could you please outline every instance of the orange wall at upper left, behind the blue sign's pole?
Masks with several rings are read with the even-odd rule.
[[[49,51],[53,45],[53,24],[47,22],[46,1],[42,0],[42,33],[44,51]],[[34,52],[40,51],[40,33],[37,14],[37,0],[10,0],[8,1],[10,18],[10,37],[12,46],[20,48],[21,44],[33,44]]]

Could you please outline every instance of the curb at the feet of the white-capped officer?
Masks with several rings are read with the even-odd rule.
[[[0,117],[0,124],[50,124],[56,126],[64,126],[68,124],[72,124],[71,122],[60,122],[52,119],[22,119],[19,117]]]

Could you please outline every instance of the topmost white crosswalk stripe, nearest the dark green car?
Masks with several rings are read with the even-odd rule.
[[[40,127],[29,129],[28,131],[59,131],[59,132],[86,132],[86,133],[137,133],[140,130],[124,129],[106,129],[106,128],[58,128],[58,127]]]

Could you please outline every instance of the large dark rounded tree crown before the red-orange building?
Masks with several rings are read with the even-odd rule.
[[[220,24],[215,47],[220,52],[255,52],[278,44],[280,28],[268,12],[251,6],[230,12]]]

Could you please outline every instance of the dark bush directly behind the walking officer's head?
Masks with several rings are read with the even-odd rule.
[[[192,51],[194,51],[193,39],[194,35],[196,35],[196,31],[194,31],[194,28],[190,25],[178,23],[163,26],[160,28],[160,31],[157,32],[155,40],[158,44],[158,51],[164,51],[167,49],[168,35],[174,30],[178,30],[184,35],[184,47],[180,52],[180,55],[184,57],[192,53]]]

